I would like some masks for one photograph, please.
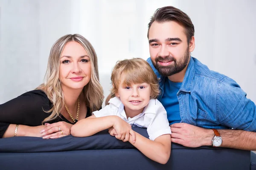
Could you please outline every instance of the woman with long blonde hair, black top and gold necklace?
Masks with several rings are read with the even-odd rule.
[[[0,138],[70,135],[79,120],[101,108],[96,53],[79,34],[58,39],[50,51],[44,83],[0,105]]]

